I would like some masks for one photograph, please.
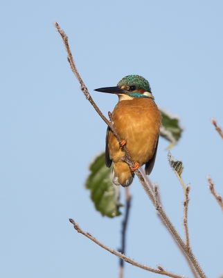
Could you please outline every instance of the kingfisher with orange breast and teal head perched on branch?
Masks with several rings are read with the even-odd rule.
[[[145,174],[150,174],[154,167],[159,142],[161,113],[154,102],[150,83],[139,75],[125,76],[116,87],[95,89],[118,95],[112,117],[118,135],[118,140],[107,128],[105,145],[105,164],[112,169],[112,181],[116,186],[130,186],[134,179],[134,171],[145,164]],[[130,167],[124,160],[126,145],[130,156],[135,162]]]

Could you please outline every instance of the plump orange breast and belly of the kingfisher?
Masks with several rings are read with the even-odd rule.
[[[161,126],[161,114],[154,101],[147,98],[119,101],[113,119],[118,134],[127,142],[132,159],[139,165],[148,162],[154,154]],[[111,131],[108,147],[112,161],[121,161],[125,154]]]

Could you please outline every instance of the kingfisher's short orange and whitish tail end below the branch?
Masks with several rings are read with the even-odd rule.
[[[112,181],[116,186],[130,186],[134,179],[134,173],[130,170],[129,165],[124,161],[114,163],[112,169]]]

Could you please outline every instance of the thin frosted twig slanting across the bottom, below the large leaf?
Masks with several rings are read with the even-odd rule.
[[[111,249],[110,247],[107,247],[106,245],[100,243],[100,241],[98,241],[96,238],[94,238],[93,236],[91,236],[91,234],[86,233],[85,231],[83,231],[80,226],[74,222],[73,219],[69,219],[69,221],[73,224],[73,227],[76,231],[78,231],[78,233],[87,236],[87,238],[89,238],[90,240],[92,240],[94,243],[98,244],[100,247],[104,248],[105,250],[111,252],[111,254],[115,254],[116,256],[118,256],[119,258],[123,259],[124,261],[127,261],[127,263],[131,263],[132,265],[137,266],[138,268],[142,268],[143,270],[148,270],[150,272],[154,272],[154,273],[158,273],[160,275],[166,275],[169,277],[174,277],[174,278],[183,278],[185,276],[181,276],[181,275],[175,275],[172,272],[168,272],[166,271],[164,268],[161,267],[161,265],[158,265],[158,270],[155,268],[150,268],[150,266],[148,265],[143,265],[142,263],[138,263],[132,259],[130,259],[129,257],[125,256],[124,254],[121,254],[121,252],[118,252],[114,249]]]

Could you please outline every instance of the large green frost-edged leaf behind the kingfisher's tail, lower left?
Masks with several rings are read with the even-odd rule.
[[[105,165],[105,153],[97,156],[91,163],[91,174],[87,178],[85,187],[91,191],[91,200],[102,215],[109,218],[121,215],[118,210],[123,206],[119,202],[119,186],[111,182],[111,168]]]

